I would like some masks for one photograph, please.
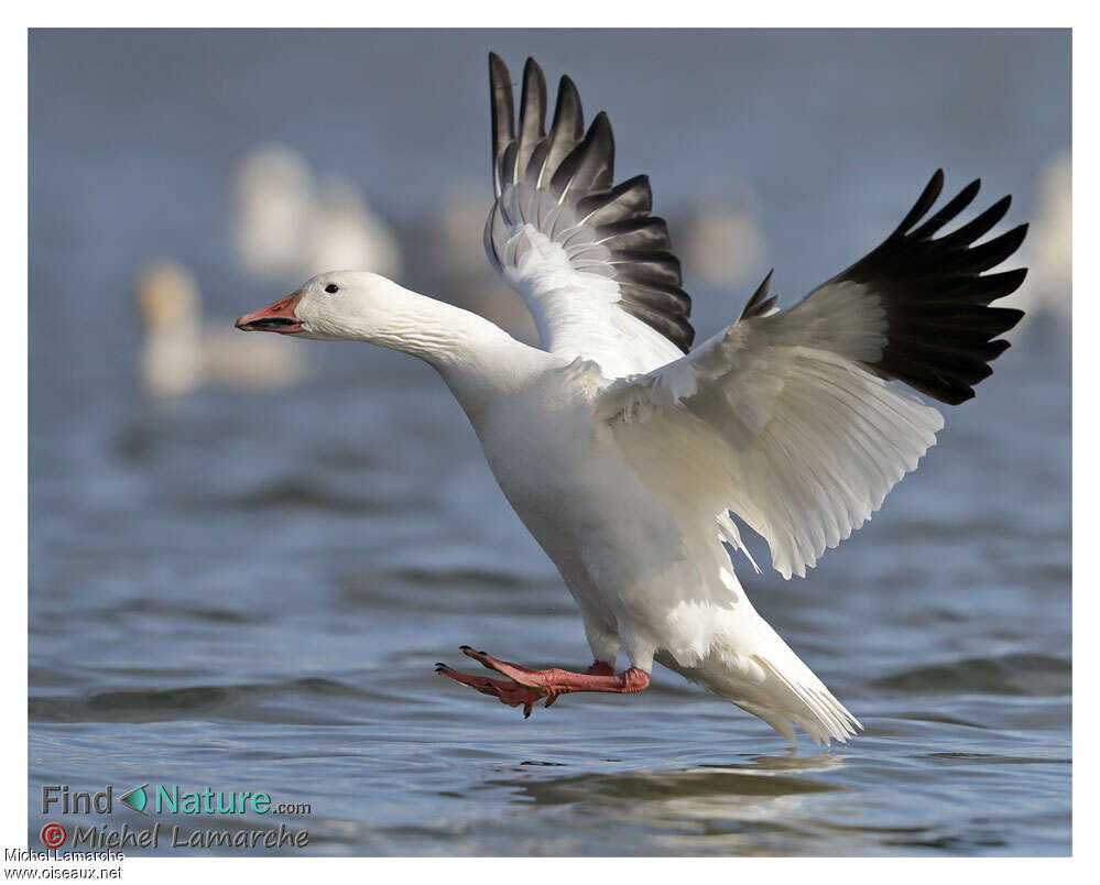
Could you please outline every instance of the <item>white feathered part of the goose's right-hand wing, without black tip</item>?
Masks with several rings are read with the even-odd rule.
[[[885,343],[862,287],[819,293],[612,383],[600,405],[643,474],[698,488],[695,474],[707,471],[714,491],[700,504],[726,539],[740,546],[728,509],[767,540],[785,578],[805,576],[863,525],[944,424],[860,364]],[[678,457],[653,457],[672,442],[683,447]]]

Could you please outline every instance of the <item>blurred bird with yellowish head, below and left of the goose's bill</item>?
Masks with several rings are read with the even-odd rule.
[[[150,396],[178,397],[205,385],[279,390],[305,374],[302,348],[235,335],[228,319],[204,323],[198,284],[181,264],[150,264],[135,289],[145,332],[140,376]]]

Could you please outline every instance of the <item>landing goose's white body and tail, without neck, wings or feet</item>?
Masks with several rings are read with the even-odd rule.
[[[854,733],[839,723],[856,720],[752,607],[717,525],[685,521],[629,462],[596,413],[598,379],[590,367],[552,369],[472,422],[501,490],[573,594],[593,659],[613,663],[621,651],[650,670],[656,658],[792,741],[787,720],[817,739]],[[827,699],[838,733],[821,730],[780,673]]]

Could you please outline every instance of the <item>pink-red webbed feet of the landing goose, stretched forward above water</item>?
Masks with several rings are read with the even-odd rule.
[[[549,707],[560,695],[574,691],[603,691],[625,695],[641,691],[650,684],[650,675],[639,667],[631,667],[621,674],[616,674],[614,668],[602,660],[593,662],[586,673],[573,673],[557,668],[534,670],[530,667],[501,660],[484,652],[476,652],[468,645],[464,645],[461,651],[462,654],[472,657],[483,667],[508,677],[508,680],[470,676],[459,673],[446,664],[437,664],[436,673],[469,686],[482,695],[491,695],[509,707],[523,704],[524,719],[531,715],[532,704],[540,698],[546,698],[545,706]]]

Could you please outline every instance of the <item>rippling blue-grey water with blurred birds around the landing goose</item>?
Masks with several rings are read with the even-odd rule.
[[[1032,221],[1028,316],[918,473],[806,580],[737,564],[851,746],[668,673],[527,722],[439,680],[461,643],[588,659],[461,409],[232,329],[358,267],[532,340],[481,248],[489,50],[609,111],[700,340],[938,166]],[[32,31],[31,844],[43,783],[162,783],[309,802],[323,854],[1068,853],[1069,72],[1068,31]]]

